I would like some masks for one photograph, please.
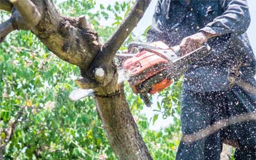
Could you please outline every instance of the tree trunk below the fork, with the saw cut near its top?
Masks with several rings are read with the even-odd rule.
[[[101,89],[95,95],[97,111],[118,159],[152,159],[125,100],[124,86]]]

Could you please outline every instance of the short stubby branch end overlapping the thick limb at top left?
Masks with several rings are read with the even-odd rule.
[[[38,24],[41,14],[38,12],[34,3],[29,0],[10,0],[10,2],[19,11],[20,16],[26,22],[27,26],[33,27]]]

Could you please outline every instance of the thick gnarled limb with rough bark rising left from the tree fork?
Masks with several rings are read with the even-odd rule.
[[[33,2],[42,6],[41,1]],[[84,19],[63,17],[51,0],[42,2],[42,19],[31,31],[61,60],[86,70],[102,46],[97,33],[83,26]]]

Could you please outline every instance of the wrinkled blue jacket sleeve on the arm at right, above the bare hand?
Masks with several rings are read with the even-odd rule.
[[[241,35],[250,25],[250,13],[246,0],[221,0],[221,6],[225,12],[216,17],[200,31],[214,35],[233,33]]]

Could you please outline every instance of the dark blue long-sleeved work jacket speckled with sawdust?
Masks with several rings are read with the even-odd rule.
[[[211,55],[186,72],[184,89],[227,90],[230,72],[238,64],[243,64],[239,76],[255,83],[255,56],[246,35],[249,24],[246,0],[190,0],[189,4],[185,0],[159,0],[147,39],[174,46],[198,31],[220,35],[208,42]]]

